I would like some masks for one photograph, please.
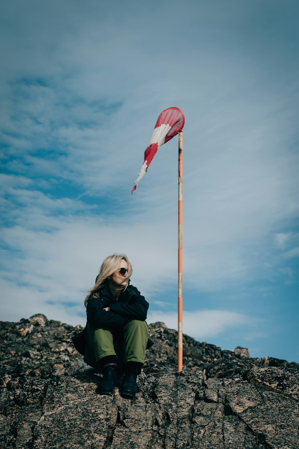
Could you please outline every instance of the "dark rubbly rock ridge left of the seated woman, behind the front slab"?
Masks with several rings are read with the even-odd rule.
[[[48,320],[42,314],[18,323],[0,322],[1,384],[14,377],[38,376],[58,381],[84,370],[82,356],[71,341],[81,326]]]

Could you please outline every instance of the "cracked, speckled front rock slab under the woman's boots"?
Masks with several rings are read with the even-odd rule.
[[[135,400],[117,387],[100,396],[99,381],[93,370],[57,385],[37,377],[9,381],[0,399],[0,447],[298,447],[298,370],[253,368],[234,379],[205,379],[199,370],[142,373]]]

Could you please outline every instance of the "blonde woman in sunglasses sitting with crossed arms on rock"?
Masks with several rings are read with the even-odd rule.
[[[106,257],[86,299],[84,361],[103,371],[100,394],[112,394],[117,360],[125,363],[121,393],[134,397],[148,342],[148,303],[129,284],[132,265],[124,254]],[[152,343],[152,342],[150,342]]]

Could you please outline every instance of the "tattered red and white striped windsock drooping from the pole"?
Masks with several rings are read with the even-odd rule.
[[[178,132],[182,131],[185,123],[185,117],[182,111],[178,108],[168,108],[161,112],[158,117],[151,140],[144,152],[144,162],[141,166],[138,177],[135,181],[131,194],[137,187],[141,178],[147,172],[147,167],[152,162],[158,147],[173,138]]]

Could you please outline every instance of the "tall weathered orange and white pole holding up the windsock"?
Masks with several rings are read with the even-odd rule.
[[[183,272],[183,132],[178,133],[178,371],[183,367],[183,294],[182,294],[182,272]]]

